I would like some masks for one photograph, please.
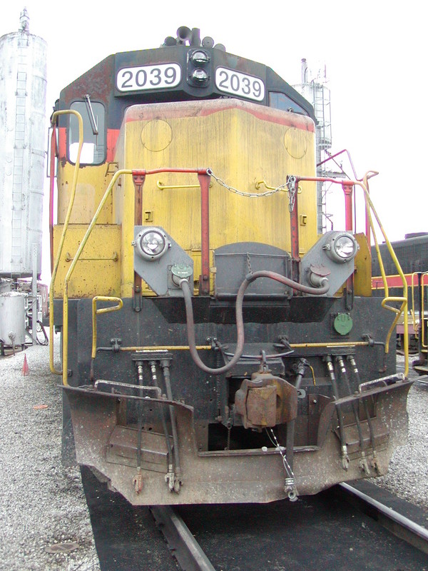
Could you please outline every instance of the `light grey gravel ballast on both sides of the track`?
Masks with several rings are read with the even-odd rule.
[[[49,347],[0,357],[0,570],[100,569],[80,470],[61,464],[60,382]],[[373,481],[427,509],[428,385],[414,383],[408,410],[408,443]]]

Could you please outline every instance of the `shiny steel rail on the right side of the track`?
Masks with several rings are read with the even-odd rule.
[[[387,530],[413,547],[417,547],[419,551],[428,553],[428,530],[425,527],[409,520],[408,517],[399,514],[390,507],[387,507],[387,505],[374,500],[369,495],[360,492],[360,490],[357,490],[357,488],[349,484],[342,483],[339,484],[339,487],[342,488],[345,493],[356,497],[357,500],[364,505],[371,507],[372,510],[377,513],[379,523]]]

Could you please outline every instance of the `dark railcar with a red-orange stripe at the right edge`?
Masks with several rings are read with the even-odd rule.
[[[428,233],[407,234],[404,240],[392,243],[394,252],[404,272],[407,282],[409,308],[408,335],[409,343],[419,357],[413,361],[413,368],[420,374],[428,373]],[[403,295],[402,280],[392,261],[386,244],[379,245],[385,281],[386,295]],[[372,290],[374,295],[385,295],[384,278],[372,246]],[[404,323],[397,325],[397,346],[404,343]]]

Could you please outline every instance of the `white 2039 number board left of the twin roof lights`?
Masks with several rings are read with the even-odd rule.
[[[116,75],[119,91],[142,91],[146,89],[168,89],[178,86],[181,68],[178,64],[125,67]]]

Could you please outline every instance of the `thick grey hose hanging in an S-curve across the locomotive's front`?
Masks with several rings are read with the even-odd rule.
[[[248,285],[253,281],[257,280],[258,278],[270,278],[271,280],[279,281],[285,285],[288,285],[290,288],[301,291],[302,293],[310,293],[311,295],[323,295],[327,293],[330,288],[330,284],[327,281],[327,278],[322,279],[321,288],[310,288],[307,285],[302,285],[302,283],[298,283],[296,281],[290,280],[290,278],[285,278],[285,276],[281,276],[280,273],[270,272],[270,271],[258,271],[254,273],[248,273],[245,276],[245,280],[241,283],[240,288],[238,290],[238,295],[236,296],[236,330],[238,334],[238,338],[236,340],[236,350],[235,355],[223,365],[223,367],[213,369],[207,367],[198,355],[198,351],[196,350],[196,343],[195,343],[195,322],[193,320],[193,306],[192,306],[192,294],[190,293],[190,285],[187,280],[183,279],[180,281],[180,288],[183,290],[184,296],[184,303],[185,303],[185,315],[187,321],[187,333],[188,333],[188,344],[190,355],[192,356],[193,361],[195,362],[198,367],[203,370],[205,373],[209,373],[210,375],[221,375],[222,373],[226,373],[226,371],[233,368],[240,356],[243,353],[244,349],[244,322],[243,322],[243,300],[245,290],[248,288]]]

